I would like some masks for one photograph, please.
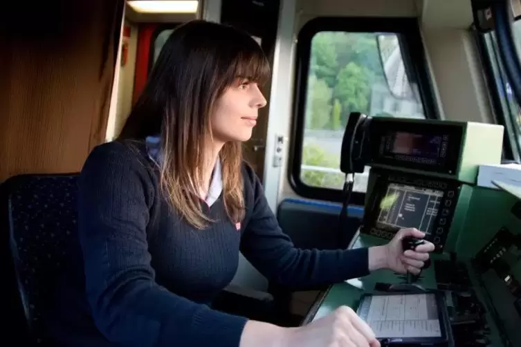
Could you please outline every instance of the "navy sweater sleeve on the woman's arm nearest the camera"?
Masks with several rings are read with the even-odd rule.
[[[96,326],[118,346],[239,346],[246,319],[154,281],[147,250],[148,169],[118,142],[96,147],[80,175],[78,227]]]

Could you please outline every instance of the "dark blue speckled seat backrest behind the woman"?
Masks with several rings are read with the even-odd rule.
[[[1,185],[15,294],[30,339],[44,343],[42,307],[76,235],[77,173],[19,175]]]

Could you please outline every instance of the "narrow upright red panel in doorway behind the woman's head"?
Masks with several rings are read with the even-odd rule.
[[[139,26],[134,94],[132,95],[133,104],[138,100],[140,93],[147,83],[150,49],[152,48],[152,34],[156,28],[157,24],[142,24]]]

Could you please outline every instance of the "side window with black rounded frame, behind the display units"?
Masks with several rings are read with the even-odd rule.
[[[345,24],[318,25],[311,32],[302,29],[295,86],[302,93],[295,112],[298,126],[292,133],[300,135],[300,143],[293,145],[291,173],[293,188],[302,196],[322,194],[326,200],[336,200],[345,180],[339,169],[340,147],[349,113],[419,119],[428,115],[421,78],[411,78],[411,57],[404,59],[410,54],[405,50],[408,32],[379,31],[378,21],[373,24],[374,31]],[[354,192],[365,194],[368,176],[369,167],[355,176]]]

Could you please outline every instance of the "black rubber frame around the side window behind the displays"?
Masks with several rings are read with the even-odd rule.
[[[287,178],[293,191],[304,198],[342,202],[342,190],[311,187],[300,178],[304,124],[306,117],[307,82],[311,62],[311,40],[322,31],[340,32],[395,32],[401,36],[404,63],[412,68],[417,78],[423,111],[427,119],[439,119],[439,108],[433,93],[432,79],[423,48],[417,19],[411,17],[316,17],[308,21],[298,33],[295,55],[293,110],[291,120],[291,143]],[[351,205],[365,205],[365,193],[353,191]]]

